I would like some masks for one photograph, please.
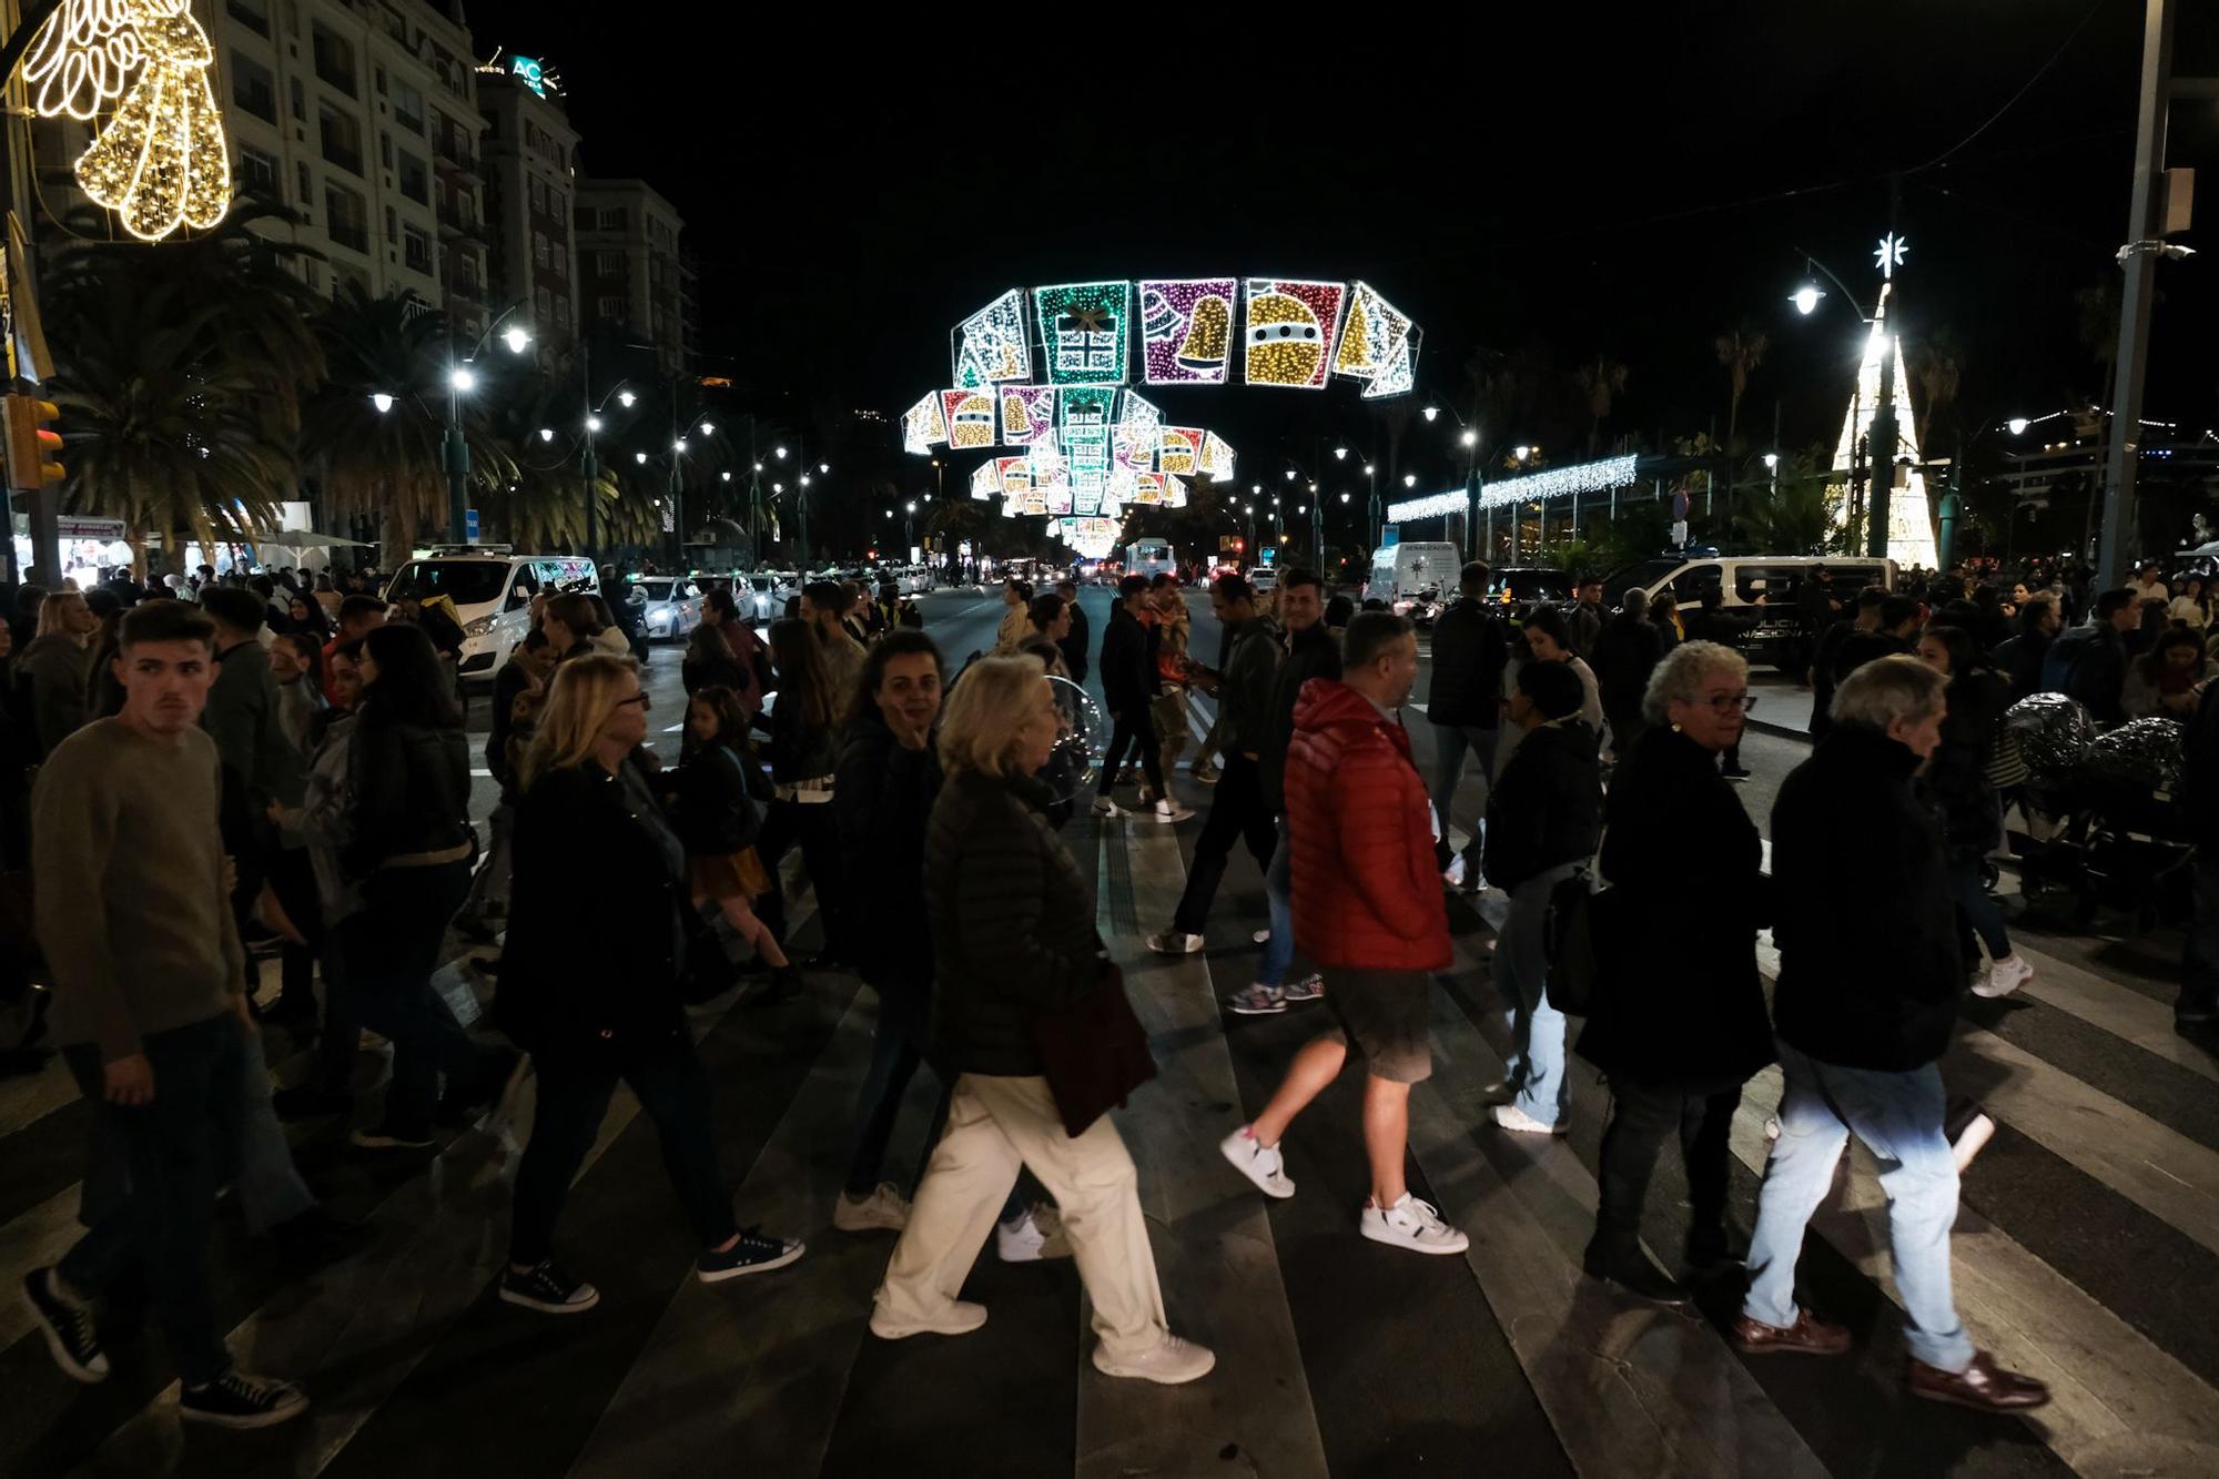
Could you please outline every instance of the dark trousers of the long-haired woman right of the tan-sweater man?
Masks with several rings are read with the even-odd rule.
[[[477,1046],[430,986],[446,926],[468,893],[468,859],[382,868],[362,886],[364,910],[342,926],[346,990],[362,1022],[393,1042],[384,1128],[408,1139],[430,1135],[439,1075],[468,1077],[479,1066]]]

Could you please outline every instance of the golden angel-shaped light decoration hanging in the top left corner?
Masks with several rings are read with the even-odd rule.
[[[231,209],[213,62],[186,0],[64,0],[31,38],[22,80],[33,113],[100,120],[78,184],[144,242],[206,231]]]

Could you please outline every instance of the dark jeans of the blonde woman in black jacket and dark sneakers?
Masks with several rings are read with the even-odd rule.
[[[539,1264],[555,1241],[555,1221],[570,1197],[570,1181],[592,1148],[592,1137],[608,1115],[608,1097],[626,1081],[639,1108],[655,1121],[663,1150],[663,1173],[686,1208],[686,1221],[703,1248],[732,1237],[732,1190],[717,1164],[717,1121],[710,1104],[708,1073],[686,1030],[641,1044],[624,1057],[597,1057],[595,1048],[535,1053],[539,1075],[539,1108],[533,1139],[517,1164],[515,1219],[508,1232],[508,1257],[515,1264]]]

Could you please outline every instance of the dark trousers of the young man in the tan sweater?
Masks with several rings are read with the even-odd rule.
[[[140,1050],[153,1064],[155,1093],[140,1106],[102,1099],[100,1048],[64,1048],[78,1088],[98,1106],[98,1144],[120,1159],[129,1193],[95,1213],[95,1184],[113,1193],[115,1177],[87,1177],[91,1226],[62,1255],[62,1281],[80,1295],[100,1295],[135,1266],[186,1386],[231,1368],[209,1299],[209,1241],[215,1188],[246,1133],[240,1084],[246,1046],[246,1030],[231,1013],[144,1037]]]

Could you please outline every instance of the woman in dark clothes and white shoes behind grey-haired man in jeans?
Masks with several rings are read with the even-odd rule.
[[[1979,966],[1973,939],[1988,948],[1988,970],[1973,995],[2008,997],[2033,977],[2010,948],[2004,908],[1988,893],[1984,862],[2004,839],[2004,804],[1988,784],[1988,755],[2010,706],[2008,682],[1982,666],[1970,633],[1962,626],[1928,626],[1919,637],[1919,662],[1948,680],[1948,713],[1942,748],[1926,771],[1926,799],[1942,815],[1951,891],[1957,897],[1957,942],[1966,966]]]

